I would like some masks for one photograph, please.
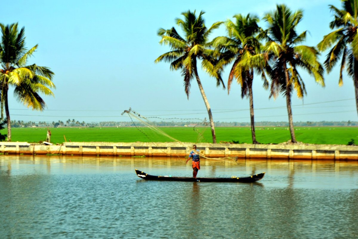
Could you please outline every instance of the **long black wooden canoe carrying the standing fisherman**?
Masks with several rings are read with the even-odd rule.
[[[184,181],[184,182],[256,182],[263,178],[265,173],[259,173],[250,177],[232,177],[232,178],[193,178],[193,177],[171,177],[171,176],[154,176],[149,175],[143,171],[135,169],[138,177],[145,180],[159,180],[159,181]]]

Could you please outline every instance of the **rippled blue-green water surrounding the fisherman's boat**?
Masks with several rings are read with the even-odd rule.
[[[0,238],[358,238],[358,162],[0,156]]]

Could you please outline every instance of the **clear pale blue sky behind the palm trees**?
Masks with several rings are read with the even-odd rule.
[[[310,46],[330,32],[332,14],[328,5],[340,7],[341,4],[339,0],[14,1],[2,11],[0,21],[18,22],[20,27],[25,27],[26,46],[39,44],[29,63],[50,67],[55,72],[57,88],[54,98],[44,97],[47,109],[43,112],[27,109],[10,92],[11,119],[129,121],[121,116],[129,107],[145,116],[204,119],[207,113],[196,82],[192,82],[187,100],[180,72],[170,71],[168,63],[154,63],[169,50],[159,45],[157,30],[173,26],[179,30],[174,19],[189,9],[205,11],[209,26],[232,19],[238,13],[253,13],[262,18],[276,3],[287,4],[292,10],[304,10],[298,32],[309,30],[305,44]],[[265,28],[265,22],[260,21],[260,26]],[[213,32],[212,38],[225,34],[222,26]],[[325,75],[325,88],[302,73],[308,94],[304,100],[292,96],[294,121],[358,120],[353,81],[344,75],[344,85],[338,87],[338,70],[335,67]],[[214,121],[250,121],[248,100],[241,99],[236,82],[228,95],[203,71],[199,71],[199,76]],[[224,82],[227,77],[228,70],[224,72]],[[284,97],[269,99],[269,91],[262,89],[261,78],[256,77],[254,81],[256,121],[287,121]]]

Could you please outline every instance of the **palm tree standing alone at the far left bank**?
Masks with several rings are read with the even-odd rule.
[[[14,95],[17,99],[34,110],[43,110],[44,100],[38,94],[52,95],[49,89],[55,88],[52,78],[54,73],[48,67],[36,64],[26,65],[27,60],[38,45],[31,49],[25,47],[25,29],[18,30],[18,24],[3,25],[0,42],[0,89],[1,89],[1,118],[3,109],[8,124],[8,141],[11,141],[11,121],[8,104],[9,86],[14,86]]]

